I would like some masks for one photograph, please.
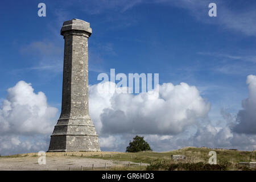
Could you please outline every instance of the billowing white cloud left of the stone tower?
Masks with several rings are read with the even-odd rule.
[[[43,92],[35,93],[31,84],[24,81],[7,93],[0,106],[0,154],[47,150],[57,108],[47,104]]]

